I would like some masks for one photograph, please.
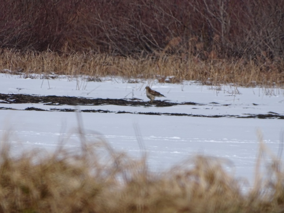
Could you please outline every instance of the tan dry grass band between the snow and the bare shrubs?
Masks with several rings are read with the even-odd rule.
[[[283,87],[284,61],[269,61],[257,65],[256,61],[215,59],[201,61],[196,57],[162,55],[158,57],[115,57],[107,54],[75,53],[59,55],[50,51],[20,53],[2,49],[1,72],[12,74],[88,75],[90,79],[103,76],[158,79],[159,82],[181,83],[196,80],[205,85],[234,83],[238,86]],[[6,71],[5,71],[6,70]],[[11,71],[7,71],[11,70]],[[169,78],[170,77],[170,78]]]

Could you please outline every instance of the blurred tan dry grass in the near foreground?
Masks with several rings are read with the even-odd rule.
[[[76,153],[30,151],[12,157],[8,138],[0,155],[0,212],[282,212],[284,171],[272,155],[266,176],[242,193],[243,183],[224,170],[226,160],[197,155],[162,173],[99,139]],[[260,139],[261,140],[261,139]],[[4,142],[6,141],[6,142]],[[266,163],[268,163],[266,161]]]

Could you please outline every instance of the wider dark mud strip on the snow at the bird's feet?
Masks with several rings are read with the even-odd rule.
[[[90,99],[83,97],[67,97],[67,96],[36,96],[36,95],[23,95],[23,94],[1,94],[0,99],[3,103],[44,103],[44,105],[118,105],[118,106],[174,106],[174,105],[202,105],[193,102],[184,102],[184,103],[171,103],[167,101],[139,101],[135,100],[125,100],[125,99]]]

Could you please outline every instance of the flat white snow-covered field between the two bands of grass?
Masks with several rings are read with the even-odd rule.
[[[196,105],[157,107],[155,102],[144,106],[47,105],[13,103],[13,100],[0,98],[0,133],[2,137],[9,133],[9,141],[15,153],[19,153],[23,147],[53,150],[62,140],[66,148],[76,151],[80,147],[79,114],[89,140],[103,137],[112,147],[133,157],[142,155],[137,141],[141,140],[153,171],[162,171],[195,154],[204,154],[229,160],[228,170],[236,178],[248,179],[250,184],[258,155],[257,130],[262,132],[263,142],[272,153],[275,156],[279,154],[284,130],[284,120],[279,119],[284,114],[283,89],[241,88],[233,85],[216,87],[196,82],[169,84],[153,80],[129,82],[128,79],[111,77],[102,82],[88,82],[84,78],[66,76],[47,80],[39,76],[36,79],[25,79],[21,75],[0,74],[0,93],[149,101],[144,89],[149,85],[166,96],[156,100],[193,102]],[[45,111],[24,110],[28,107]],[[57,109],[76,109],[76,112]],[[80,112],[85,109],[110,112]],[[122,111],[128,113],[117,113]],[[145,114],[148,112],[187,115]],[[272,117],[238,118],[257,114],[269,114]]]

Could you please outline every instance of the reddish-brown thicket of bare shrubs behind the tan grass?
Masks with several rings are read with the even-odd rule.
[[[0,46],[58,53],[283,59],[284,1],[9,0]]]

